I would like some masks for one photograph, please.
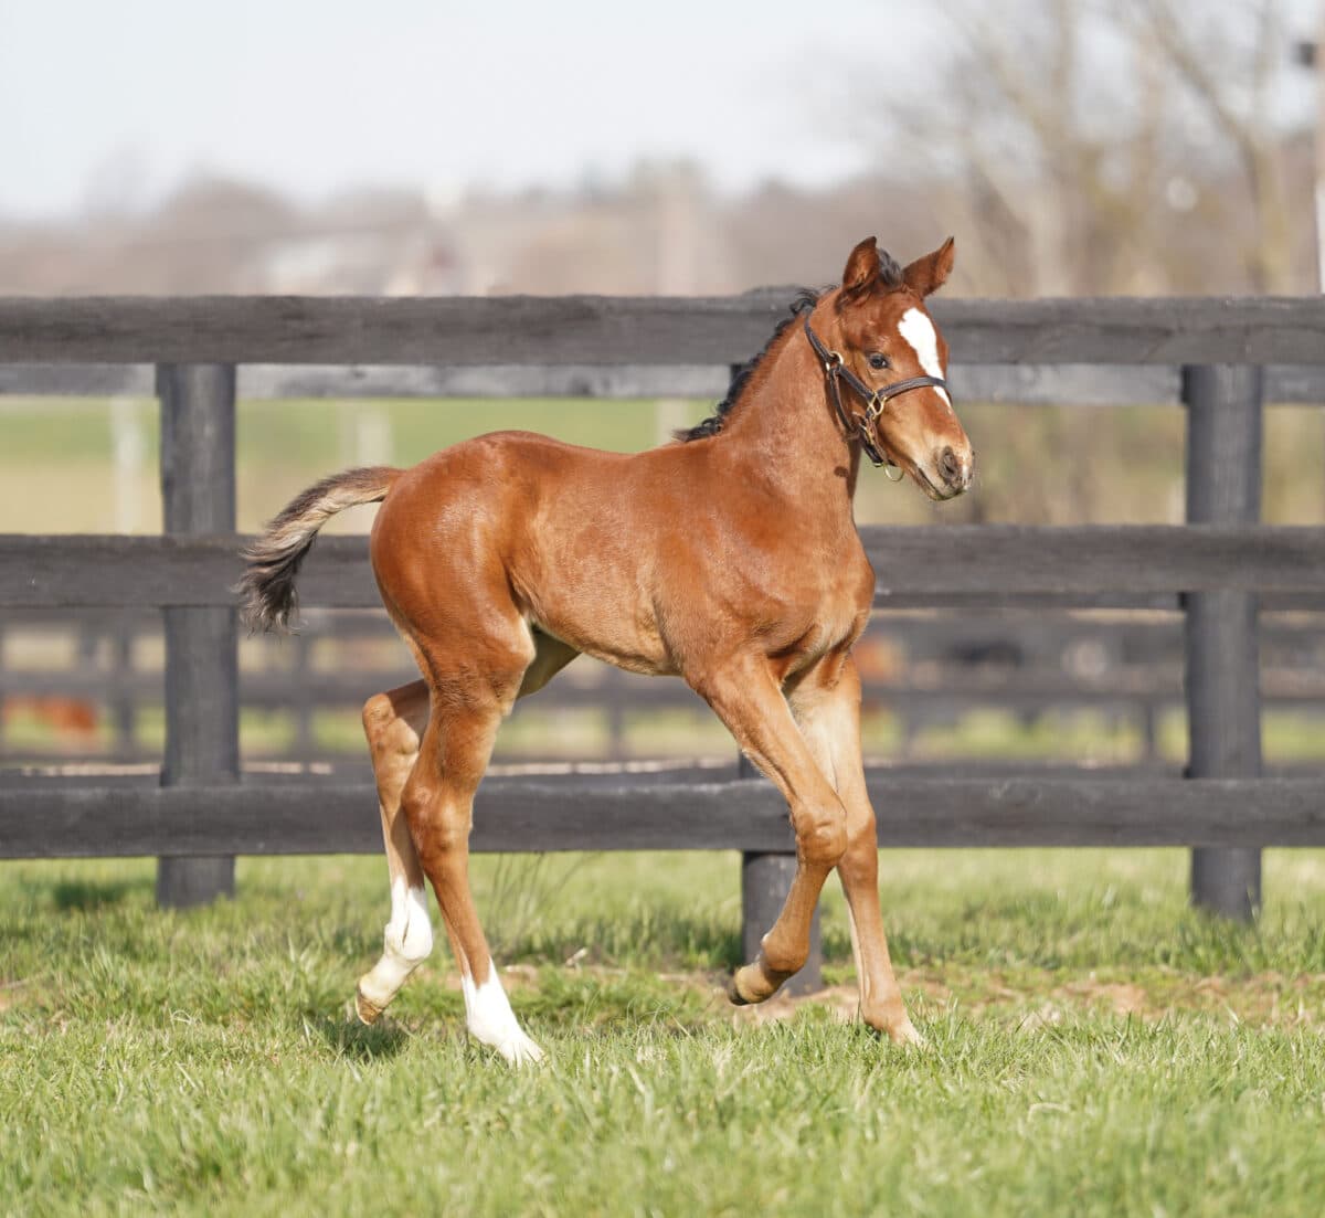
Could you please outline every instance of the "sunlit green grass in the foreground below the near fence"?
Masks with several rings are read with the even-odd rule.
[[[921,1052],[840,1021],[835,884],[825,995],[734,1015],[734,856],[477,860],[525,1074],[464,1038],[444,948],[351,1022],[379,859],[241,860],[187,913],[146,861],[5,864],[0,1209],[1325,1209],[1325,854],[1267,855],[1255,929],[1187,911],[1177,851],[882,863]]]

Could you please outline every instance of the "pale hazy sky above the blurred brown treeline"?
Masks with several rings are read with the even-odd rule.
[[[868,167],[841,65],[924,64],[885,0],[0,0],[0,216],[142,208],[196,174],[562,187],[641,158],[723,191]]]

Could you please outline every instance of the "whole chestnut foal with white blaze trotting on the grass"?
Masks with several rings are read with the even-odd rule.
[[[733,1002],[762,1002],[804,964],[836,867],[861,1017],[893,1040],[920,1039],[888,958],[861,766],[851,649],[874,573],[852,494],[863,449],[934,500],[971,482],[971,445],[942,380],[946,345],[924,304],[951,266],[951,240],[905,270],[861,241],[841,286],[807,296],[682,443],[617,455],[529,432],[480,436],[412,469],[326,478],[253,545],[245,619],[288,626],[319,526],[383,502],[372,569],[424,679],[363,708],[391,872],[386,946],[358,987],[366,1023],[432,950],[427,876],[469,1031],[507,1062],[542,1056],[470,896],[470,811],[515,700],[586,652],[682,677],[791,808],[796,875],[758,958],[733,977]]]

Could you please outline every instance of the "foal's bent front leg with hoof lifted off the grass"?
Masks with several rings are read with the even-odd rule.
[[[763,1002],[810,954],[810,922],[828,872],[847,848],[841,803],[824,778],[763,656],[742,657],[692,685],[791,808],[796,875],[759,957],[731,978],[733,1002]]]

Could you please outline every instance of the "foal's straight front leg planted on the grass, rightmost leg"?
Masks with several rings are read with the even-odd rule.
[[[847,814],[847,851],[837,864],[851,917],[860,1015],[898,1044],[924,1044],[906,1014],[888,954],[878,903],[878,836],[860,753],[860,676],[849,656],[837,671],[827,661],[791,696],[806,744],[837,789]]]

